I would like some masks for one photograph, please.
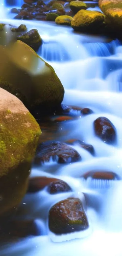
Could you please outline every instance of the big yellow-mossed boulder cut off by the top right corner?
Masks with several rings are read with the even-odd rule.
[[[99,0],[99,6],[112,30],[120,32],[120,29],[122,29],[122,1]]]

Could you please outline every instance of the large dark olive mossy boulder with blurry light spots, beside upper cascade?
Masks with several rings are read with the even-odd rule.
[[[17,96],[28,109],[61,104],[64,88],[54,69],[21,41],[0,45],[0,87]]]

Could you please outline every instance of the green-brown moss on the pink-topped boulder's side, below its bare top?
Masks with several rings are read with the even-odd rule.
[[[32,159],[41,130],[30,114],[1,112],[0,126],[0,176],[20,162]]]

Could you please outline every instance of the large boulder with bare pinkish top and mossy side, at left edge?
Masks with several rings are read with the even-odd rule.
[[[0,220],[16,212],[26,193],[40,134],[23,103],[0,88]]]

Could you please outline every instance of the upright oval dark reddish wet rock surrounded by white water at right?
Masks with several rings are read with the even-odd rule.
[[[94,131],[104,142],[108,144],[116,142],[116,128],[106,117],[98,117],[94,121]]]

